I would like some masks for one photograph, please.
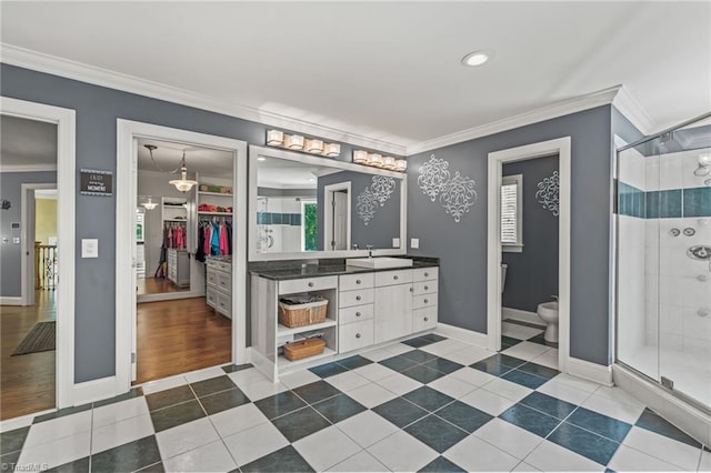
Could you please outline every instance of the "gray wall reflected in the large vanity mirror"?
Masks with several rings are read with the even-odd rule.
[[[318,180],[318,244],[323,250],[323,188],[339,182],[351,182],[351,245],[358,244],[361,250],[372,244],[373,248],[392,248],[392,239],[400,238],[400,190],[402,181],[395,179],[395,190],[383,207],[379,207],[375,215],[368,222],[358,217],[358,194],[372,184],[373,174],[343,171],[324,175]]]

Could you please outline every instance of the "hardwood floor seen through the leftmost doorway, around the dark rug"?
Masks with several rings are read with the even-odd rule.
[[[0,308],[0,420],[56,406],[56,351],[10,356],[38,322],[57,320],[56,291],[37,291],[36,305]]]

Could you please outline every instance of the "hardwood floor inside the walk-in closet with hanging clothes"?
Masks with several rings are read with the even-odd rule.
[[[133,384],[229,363],[232,321],[204,298],[138,304],[138,368]]]

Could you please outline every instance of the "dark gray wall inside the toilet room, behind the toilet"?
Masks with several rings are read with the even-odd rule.
[[[512,162],[502,175],[523,174],[523,251],[503,252],[509,265],[502,294],[504,308],[535,312],[558,295],[558,217],[535,200],[538,183],[558,171],[558,155]]]

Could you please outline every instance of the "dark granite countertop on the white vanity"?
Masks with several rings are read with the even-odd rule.
[[[378,256],[373,256],[378,258]],[[348,266],[344,259],[319,260],[317,263],[303,261],[264,261],[250,263],[249,272],[261,278],[286,281],[301,278],[320,278],[341,274],[372,273],[380,271],[395,271],[418,268],[434,268],[439,265],[439,258],[403,256],[412,260],[412,266],[405,268],[361,268]]]

